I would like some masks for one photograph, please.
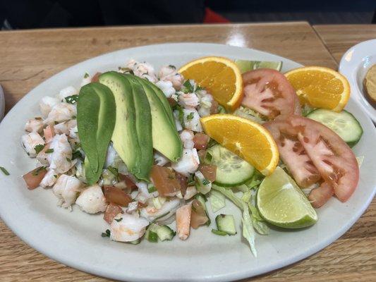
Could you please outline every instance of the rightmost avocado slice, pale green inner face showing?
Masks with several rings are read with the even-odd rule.
[[[156,87],[157,90],[155,90],[152,82],[138,78],[135,75],[126,74],[124,76],[133,78],[145,90],[152,114],[152,144],[154,149],[170,161],[178,161],[183,152],[183,145],[176,130],[175,121],[172,120],[171,107],[163,92],[163,97],[160,97],[157,91],[159,88]],[[168,105],[164,106],[161,98],[165,99]]]

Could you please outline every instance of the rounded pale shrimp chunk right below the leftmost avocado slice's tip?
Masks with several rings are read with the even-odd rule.
[[[104,212],[107,208],[106,198],[99,185],[93,185],[83,190],[75,203],[87,214],[97,214]]]

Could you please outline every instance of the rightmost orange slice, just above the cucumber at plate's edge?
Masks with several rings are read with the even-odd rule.
[[[302,104],[341,111],[350,97],[348,81],[331,68],[307,66],[285,73]]]

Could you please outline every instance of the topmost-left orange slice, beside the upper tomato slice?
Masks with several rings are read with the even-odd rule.
[[[234,111],[240,106],[243,80],[234,61],[214,56],[200,58],[182,66],[179,73],[205,87],[226,109]]]

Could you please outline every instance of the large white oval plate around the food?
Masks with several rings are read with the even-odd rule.
[[[126,281],[229,281],[262,274],[292,264],[321,250],[344,234],[360,217],[375,194],[375,126],[353,99],[347,109],[360,121],[363,138],[355,147],[365,156],[359,187],[346,203],[332,198],[317,210],[319,221],[300,231],[274,229],[268,236],[257,235],[258,257],[241,238],[241,213],[228,204],[226,213],[236,217],[238,234],[218,236],[210,228],[193,230],[187,241],[139,245],[111,242],[102,238],[107,227],[102,215],[90,215],[73,207],[73,212],[56,207],[51,191],[29,191],[21,175],[35,166],[20,147],[25,121],[39,114],[38,101],[55,95],[67,85],[79,85],[85,72],[117,69],[128,59],[149,61],[156,68],[164,64],[181,66],[200,56],[232,59],[281,60],[283,71],[301,65],[262,51],[218,44],[161,44],[115,51],[78,63],[35,87],[13,107],[0,124],[0,159],[11,176],[0,176],[0,214],[6,224],[28,245],[68,266],[99,276]],[[210,204],[208,204],[210,209]],[[224,212],[224,211],[220,211]],[[213,216],[212,216],[213,219]]]

